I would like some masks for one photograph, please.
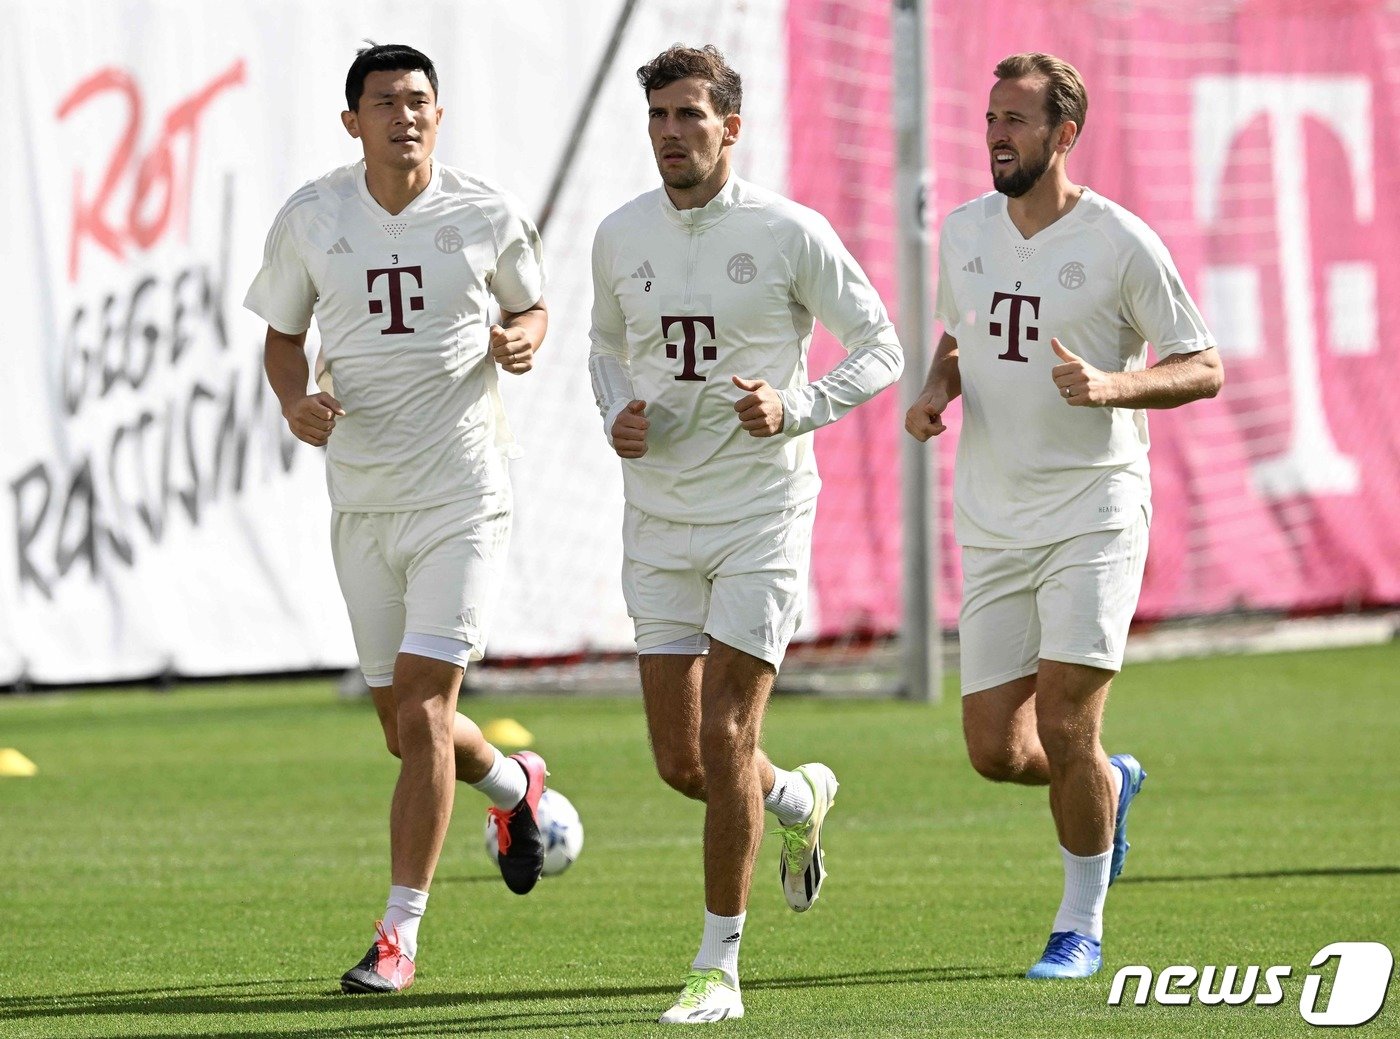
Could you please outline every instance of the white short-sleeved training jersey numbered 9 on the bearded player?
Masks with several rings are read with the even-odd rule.
[[[1151,517],[1147,414],[1067,405],[1050,340],[1102,371],[1142,370],[1148,342],[1159,358],[1215,346],[1156,234],[1085,189],[1022,238],[991,192],[948,216],[938,253],[962,378],[958,542],[1032,548]]]

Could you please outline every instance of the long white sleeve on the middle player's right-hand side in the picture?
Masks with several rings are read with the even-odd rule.
[[[792,294],[834,335],[846,358],[805,386],[780,392],[783,431],[827,426],[899,379],[904,353],[875,287],[832,225],[815,217],[792,259]]]

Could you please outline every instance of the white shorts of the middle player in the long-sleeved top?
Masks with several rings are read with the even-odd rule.
[[[781,667],[806,605],[816,501],[729,524],[627,505],[622,591],[637,651],[704,633]]]

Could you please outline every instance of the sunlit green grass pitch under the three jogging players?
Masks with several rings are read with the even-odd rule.
[[[582,857],[528,898],[458,788],[419,979],[344,997],[388,888],[396,763],[332,683],[0,697],[0,1036],[671,1035],[652,1024],[701,923],[701,808],[651,772],[633,699],[463,700],[514,717],[578,807]],[[778,697],[764,745],[841,780],[806,914],[763,847],[743,941],[748,1036],[1305,1036],[1309,961],[1400,951],[1400,644],[1142,664],[1105,744],[1149,779],[1107,903],[1105,970],[1021,977],[1060,898],[1044,791],[967,766],[958,699]],[[1291,965],[1274,1007],[1109,1007],[1114,970]],[[1400,984],[1350,1035],[1400,1035]]]

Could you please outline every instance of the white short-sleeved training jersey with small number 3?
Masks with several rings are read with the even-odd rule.
[[[539,235],[500,189],[433,164],[402,213],[342,167],[281,207],[244,305],[287,335],[315,315],[346,410],[326,445],[330,503],[398,512],[507,480],[510,428],[489,349],[489,305],[521,312],[543,291]]]

